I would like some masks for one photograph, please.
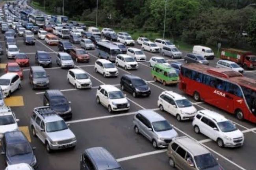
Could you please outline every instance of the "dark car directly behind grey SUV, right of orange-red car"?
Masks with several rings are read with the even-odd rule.
[[[35,63],[43,67],[52,67],[52,58],[50,54],[45,51],[37,51],[35,53]]]

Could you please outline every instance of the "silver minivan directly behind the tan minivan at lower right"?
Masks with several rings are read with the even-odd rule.
[[[154,148],[165,148],[178,134],[163,116],[153,110],[139,110],[133,120],[136,134],[142,134]]]

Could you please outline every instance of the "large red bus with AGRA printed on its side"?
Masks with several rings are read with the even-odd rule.
[[[230,69],[182,65],[179,89],[219,109],[256,123],[256,81]]]

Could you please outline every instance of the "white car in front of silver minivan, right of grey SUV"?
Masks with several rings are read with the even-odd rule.
[[[76,89],[92,87],[89,75],[81,69],[70,69],[67,73],[67,81],[74,85]]]

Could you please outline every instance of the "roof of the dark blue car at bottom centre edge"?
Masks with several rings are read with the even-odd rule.
[[[94,147],[86,149],[85,152],[97,166],[97,170],[107,170],[119,168],[115,158],[103,147]]]

